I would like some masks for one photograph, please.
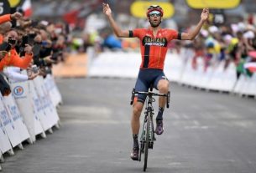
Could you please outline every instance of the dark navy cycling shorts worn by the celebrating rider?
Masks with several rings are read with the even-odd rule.
[[[138,79],[135,84],[135,91],[149,91],[150,85],[158,89],[157,85],[160,79],[168,80],[162,69],[139,69]],[[138,101],[144,103],[146,95],[138,94]]]

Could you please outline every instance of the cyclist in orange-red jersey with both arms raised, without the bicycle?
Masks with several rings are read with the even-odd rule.
[[[165,55],[167,52],[167,44],[172,39],[192,40],[200,32],[203,23],[209,17],[209,9],[204,8],[201,13],[201,20],[196,27],[188,33],[179,33],[174,29],[161,28],[164,11],[158,5],[148,8],[146,13],[149,20],[149,28],[135,28],[133,30],[122,30],[112,18],[111,8],[107,3],[102,3],[103,13],[119,38],[139,38],[142,63],[138,72],[138,79],[135,84],[136,91],[148,91],[150,84],[154,84],[154,88],[159,90],[161,94],[167,94],[169,90],[169,81],[164,74]],[[133,132],[133,151],[131,158],[138,160],[138,131],[139,117],[144,107],[146,96],[138,94],[137,99],[133,102],[133,115],[131,120]],[[165,109],[165,97],[159,97],[159,112],[156,117],[155,133],[161,135],[163,129],[163,113]]]

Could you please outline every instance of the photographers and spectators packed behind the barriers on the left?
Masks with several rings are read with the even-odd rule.
[[[51,74],[53,64],[64,61],[69,29],[63,23],[24,18],[22,13],[0,16],[1,93],[8,83]]]

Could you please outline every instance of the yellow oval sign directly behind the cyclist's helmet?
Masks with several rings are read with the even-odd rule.
[[[147,18],[146,13],[150,5],[159,5],[161,8],[163,8],[163,18],[171,18],[175,13],[175,8],[171,3],[159,1],[135,1],[130,7],[130,11],[136,18]]]

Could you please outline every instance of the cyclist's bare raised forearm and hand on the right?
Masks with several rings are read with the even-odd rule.
[[[209,18],[209,9],[204,8],[201,13],[201,20],[199,23],[197,23],[196,28],[191,30],[189,33],[181,33],[181,39],[194,39],[196,38],[196,35],[200,32],[202,25],[206,22],[206,20]]]

